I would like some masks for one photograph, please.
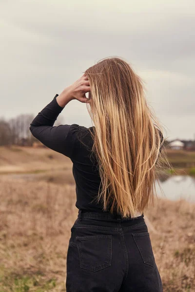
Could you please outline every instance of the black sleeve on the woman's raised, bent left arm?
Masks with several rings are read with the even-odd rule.
[[[30,124],[32,135],[42,144],[69,158],[72,158],[79,125],[54,126],[59,113],[64,109],[59,106],[56,97],[42,109]]]

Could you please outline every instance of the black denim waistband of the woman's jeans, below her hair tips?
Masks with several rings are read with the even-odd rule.
[[[143,213],[141,215],[138,215],[137,217],[139,217],[139,216],[144,217]],[[96,212],[96,211],[90,212],[90,211],[87,211],[87,210],[79,209],[78,210],[78,219],[81,220],[81,218],[117,219],[117,220],[120,220],[120,221],[126,221],[126,220],[130,220],[132,218],[135,218],[135,217],[129,217],[129,218],[125,218],[125,219],[123,218],[122,219],[120,215],[115,215],[115,214],[112,214],[112,213],[109,213],[109,212]]]

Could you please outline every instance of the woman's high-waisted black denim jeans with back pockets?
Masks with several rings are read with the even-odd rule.
[[[163,292],[143,214],[78,210],[66,268],[67,292]]]

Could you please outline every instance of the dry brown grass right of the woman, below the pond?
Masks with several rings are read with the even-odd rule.
[[[195,204],[158,199],[147,219],[165,292],[195,292]]]

